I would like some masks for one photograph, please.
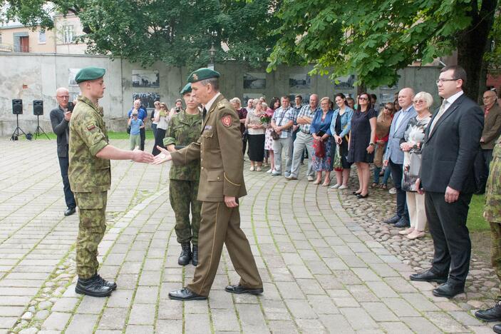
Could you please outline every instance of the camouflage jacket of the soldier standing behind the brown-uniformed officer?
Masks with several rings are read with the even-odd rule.
[[[175,146],[188,146],[197,141],[202,128],[202,115],[187,114],[186,111],[176,113],[170,118],[169,127],[163,144]],[[200,159],[190,161],[184,166],[170,166],[169,177],[172,180],[198,181],[200,179]]]

